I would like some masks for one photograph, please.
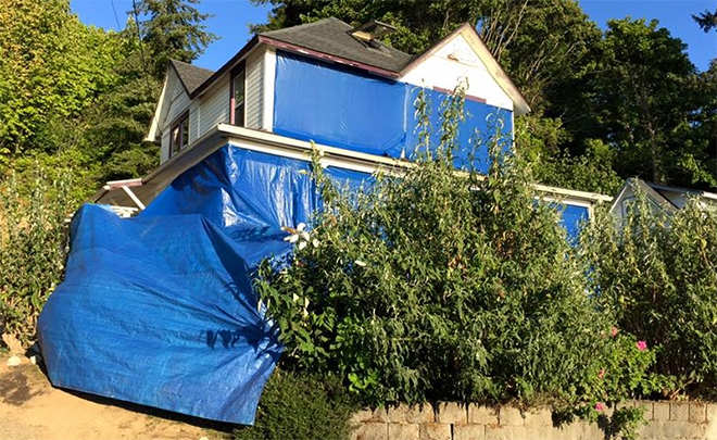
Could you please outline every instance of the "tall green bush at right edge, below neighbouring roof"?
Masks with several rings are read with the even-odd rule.
[[[619,327],[658,347],[665,394],[715,397],[717,212],[690,201],[668,214],[638,193],[621,223],[596,216],[583,237],[599,302]]]

